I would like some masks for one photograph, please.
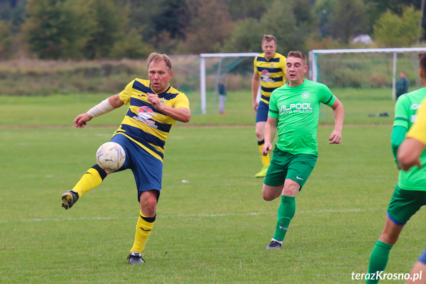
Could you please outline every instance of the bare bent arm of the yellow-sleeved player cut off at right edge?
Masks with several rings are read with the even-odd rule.
[[[399,146],[398,153],[396,154],[399,166],[403,170],[409,170],[415,165],[422,167],[419,157],[424,150],[425,144],[414,138],[406,138]]]

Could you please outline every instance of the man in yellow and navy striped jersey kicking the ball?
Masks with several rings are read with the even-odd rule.
[[[150,54],[148,76],[149,80],[131,81],[122,92],[107,98],[74,120],[76,127],[84,128],[91,119],[124,104],[129,105],[111,141],[124,149],[125,162],[116,171],[132,170],[137,199],[141,205],[135,241],[127,257],[130,264],[145,263],[141,253],[154,226],[167,136],[176,121],[189,122],[191,119],[188,98],[169,84],[173,71],[167,55]],[[100,185],[110,173],[112,171],[105,171],[97,164],[89,168],[76,186],[62,195],[62,207],[71,208],[83,194]]]

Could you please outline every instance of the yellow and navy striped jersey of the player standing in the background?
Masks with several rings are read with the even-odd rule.
[[[265,53],[254,58],[254,71],[259,73],[261,81],[261,101],[269,104],[272,91],[285,84],[286,61],[284,55],[276,52],[270,60],[265,58]]]

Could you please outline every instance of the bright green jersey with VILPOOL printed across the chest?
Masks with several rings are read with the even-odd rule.
[[[278,119],[276,147],[293,155],[316,155],[319,104],[331,106],[335,100],[326,85],[306,79],[299,86],[287,83],[275,89],[268,116]]]

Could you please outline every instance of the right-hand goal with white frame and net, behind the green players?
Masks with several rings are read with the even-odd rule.
[[[405,73],[409,92],[421,87],[417,57],[422,51],[426,48],[311,50],[309,77],[342,101],[346,123],[391,123],[399,74]],[[333,122],[328,109],[321,108],[320,123]]]

